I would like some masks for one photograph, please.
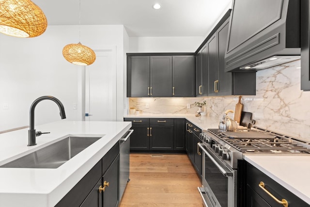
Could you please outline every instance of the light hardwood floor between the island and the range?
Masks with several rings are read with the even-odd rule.
[[[130,154],[120,207],[203,207],[201,181],[185,154]]]

